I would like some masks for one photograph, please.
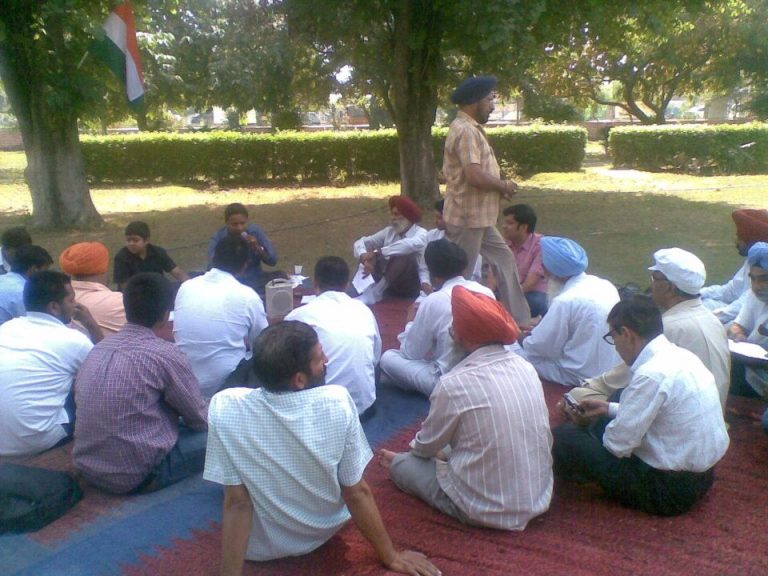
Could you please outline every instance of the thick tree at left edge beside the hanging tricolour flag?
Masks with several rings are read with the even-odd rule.
[[[100,92],[91,63],[78,62],[105,8],[95,0],[4,0],[0,9],[0,76],[24,142],[34,226],[101,223],[77,130]]]

